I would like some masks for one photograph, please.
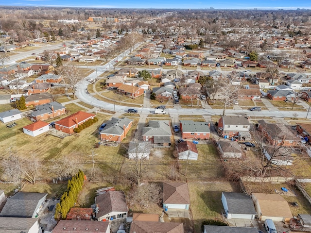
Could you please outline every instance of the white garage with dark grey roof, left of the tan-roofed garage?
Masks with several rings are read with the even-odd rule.
[[[254,220],[257,215],[253,200],[245,193],[222,193],[225,216]]]

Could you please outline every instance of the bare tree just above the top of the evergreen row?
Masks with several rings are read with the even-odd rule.
[[[57,177],[72,177],[81,169],[81,157],[79,153],[72,153],[53,158],[50,160],[52,165],[49,166],[49,171]]]

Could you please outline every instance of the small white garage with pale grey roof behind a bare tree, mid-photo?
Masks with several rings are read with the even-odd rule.
[[[151,142],[130,142],[127,150],[129,159],[149,159]]]

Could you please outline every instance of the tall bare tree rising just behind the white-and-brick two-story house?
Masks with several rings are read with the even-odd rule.
[[[225,110],[227,107],[232,105],[234,101],[239,98],[239,85],[234,85],[234,75],[222,77],[218,79],[218,82],[215,85],[217,94],[222,96],[222,99],[219,101],[224,105],[223,116],[225,116]]]

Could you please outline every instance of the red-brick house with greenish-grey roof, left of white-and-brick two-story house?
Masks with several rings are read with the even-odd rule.
[[[183,139],[209,139],[209,123],[193,120],[180,120],[179,122]]]

